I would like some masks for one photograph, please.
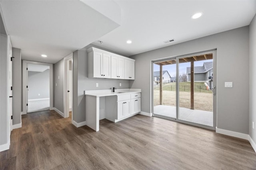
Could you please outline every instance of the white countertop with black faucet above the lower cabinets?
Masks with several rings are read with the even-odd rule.
[[[122,93],[118,93],[122,92]],[[104,96],[115,96],[115,95],[122,95],[122,94],[132,94],[132,93],[140,93],[141,89],[135,88],[124,88],[124,89],[116,89],[115,92],[112,90],[87,90],[85,91],[84,95],[86,96],[93,96],[93,97],[104,97]]]

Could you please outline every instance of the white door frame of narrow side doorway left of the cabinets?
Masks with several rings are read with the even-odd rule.
[[[69,54],[68,56],[64,57],[64,117],[69,117],[69,94],[68,94],[68,62],[72,61],[72,86],[71,86],[71,92],[72,92],[72,121],[73,121],[73,53]]]

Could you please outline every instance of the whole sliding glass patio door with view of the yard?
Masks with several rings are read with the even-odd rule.
[[[215,61],[215,50],[152,61],[153,115],[215,129]]]

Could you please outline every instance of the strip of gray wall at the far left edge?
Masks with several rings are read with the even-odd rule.
[[[9,57],[7,57],[7,35],[0,34],[0,145],[8,143],[8,65]]]

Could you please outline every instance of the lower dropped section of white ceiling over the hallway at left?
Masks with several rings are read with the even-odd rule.
[[[79,0],[0,0],[0,5],[12,46],[24,60],[56,63],[119,26]]]

